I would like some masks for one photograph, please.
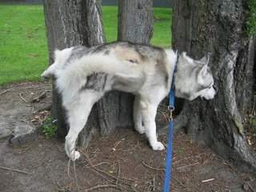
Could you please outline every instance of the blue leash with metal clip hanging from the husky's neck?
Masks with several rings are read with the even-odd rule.
[[[178,58],[177,58],[178,62]],[[174,66],[174,74],[177,70],[177,62]],[[172,169],[172,156],[173,156],[173,133],[174,133],[174,121],[173,121],[173,111],[174,111],[174,96],[175,96],[175,87],[174,87],[174,75],[173,80],[170,88],[169,93],[169,106],[168,110],[170,112],[169,115],[169,133],[168,133],[168,144],[167,144],[167,151],[166,151],[166,174],[165,174],[165,181],[163,186],[163,192],[170,192],[170,183],[171,183],[171,169]]]

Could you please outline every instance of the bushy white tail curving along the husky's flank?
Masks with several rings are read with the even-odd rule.
[[[68,65],[58,75],[58,90],[80,90],[86,84],[90,74],[105,73],[121,79],[138,79],[142,76],[141,65],[138,63],[120,60],[115,55],[101,53],[89,54]],[[134,80],[135,81],[135,80]],[[74,91],[73,91],[74,92]]]

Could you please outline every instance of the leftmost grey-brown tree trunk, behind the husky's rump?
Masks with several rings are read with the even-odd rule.
[[[45,0],[44,10],[46,18],[46,34],[50,55],[50,64],[54,62],[54,50],[70,46],[95,46],[105,42],[102,30],[102,10],[100,1],[88,0]],[[101,76],[97,76],[101,81]],[[54,87],[54,83],[53,83]],[[52,116],[58,119],[58,136],[66,136],[69,127],[66,124],[65,110],[62,108],[61,97],[53,89]],[[90,131],[94,127],[102,126],[109,118],[109,114],[102,113],[102,105],[107,105],[107,98],[94,106],[86,124],[85,133],[81,134],[80,141],[86,145]],[[99,120],[100,119],[100,120]]]

